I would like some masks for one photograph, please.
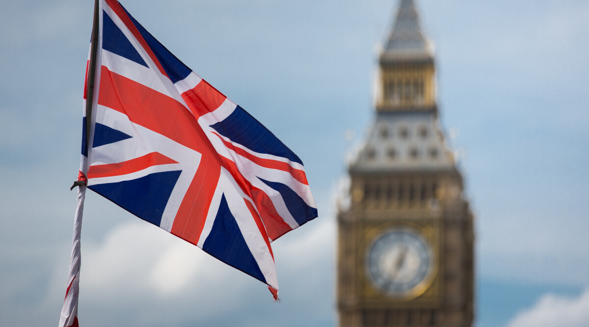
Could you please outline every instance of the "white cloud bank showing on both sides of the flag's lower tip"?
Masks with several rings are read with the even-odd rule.
[[[274,242],[279,273],[310,271],[325,262],[333,250],[334,232],[333,220],[324,219]],[[196,246],[141,221],[116,226],[104,242],[87,247],[81,283],[101,300],[119,297],[121,290],[178,295],[210,283],[221,285],[236,272]]]

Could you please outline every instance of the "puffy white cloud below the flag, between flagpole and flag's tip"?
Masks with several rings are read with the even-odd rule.
[[[222,283],[226,270],[197,247],[141,221],[114,227],[84,253],[82,288],[96,300],[178,295]]]

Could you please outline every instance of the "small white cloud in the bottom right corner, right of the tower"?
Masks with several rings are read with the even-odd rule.
[[[547,294],[531,309],[519,312],[509,327],[589,326],[589,289],[578,298]]]

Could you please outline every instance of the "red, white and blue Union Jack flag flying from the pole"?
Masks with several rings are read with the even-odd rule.
[[[100,0],[95,17],[79,180],[261,280],[277,298],[270,243],[317,217],[303,162],[119,2]]]

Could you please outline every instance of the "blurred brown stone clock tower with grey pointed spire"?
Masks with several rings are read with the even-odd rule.
[[[339,324],[471,326],[473,216],[413,0],[401,0],[376,88],[376,119],[349,166],[350,205],[337,216]]]

